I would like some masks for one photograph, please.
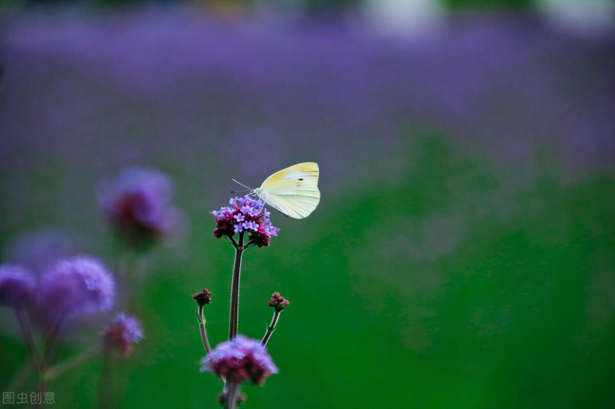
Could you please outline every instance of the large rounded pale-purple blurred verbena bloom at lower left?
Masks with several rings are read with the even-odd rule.
[[[60,260],[42,277],[41,286],[41,303],[56,314],[93,314],[113,306],[113,278],[93,257]]]

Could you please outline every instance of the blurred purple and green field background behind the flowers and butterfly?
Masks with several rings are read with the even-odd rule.
[[[183,227],[124,294],[146,338],[117,406],[218,407],[191,294],[222,341],[233,251],[209,212],[232,177],[315,161],[319,208],[245,254],[239,332],[291,302],[246,408],[615,407],[613,2],[1,4],[2,262],[116,270],[98,181],[175,184]],[[26,349],[1,317],[4,388]],[[57,407],[95,406],[101,365],[55,380]]]

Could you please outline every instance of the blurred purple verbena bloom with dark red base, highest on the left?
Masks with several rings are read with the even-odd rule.
[[[171,203],[172,183],[154,169],[132,167],[98,189],[98,205],[119,232],[133,240],[172,235],[180,213]]]

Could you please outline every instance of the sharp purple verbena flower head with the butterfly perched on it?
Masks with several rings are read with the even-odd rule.
[[[231,198],[229,204],[231,206],[212,211],[216,218],[213,235],[221,238],[246,232],[248,240],[253,241],[256,246],[269,246],[271,237],[277,236],[280,229],[271,224],[270,213],[264,207],[264,202],[245,195],[243,198]]]

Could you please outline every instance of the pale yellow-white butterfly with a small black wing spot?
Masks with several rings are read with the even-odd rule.
[[[261,187],[251,189],[250,195],[255,195],[286,216],[304,219],[320,202],[318,174],[317,163],[297,163],[269,176]],[[233,181],[237,182],[235,179]]]

